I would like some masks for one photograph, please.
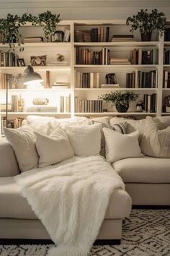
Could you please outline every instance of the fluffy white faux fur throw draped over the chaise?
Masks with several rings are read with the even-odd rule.
[[[58,166],[35,169],[15,177],[50,238],[57,244],[49,256],[86,256],[120,176],[101,156],[73,157]]]

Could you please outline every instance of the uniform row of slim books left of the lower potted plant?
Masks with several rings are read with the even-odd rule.
[[[102,113],[102,100],[80,100],[79,96],[75,97],[75,112],[76,113]]]

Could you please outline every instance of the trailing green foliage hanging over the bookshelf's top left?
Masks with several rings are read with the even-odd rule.
[[[60,14],[52,14],[51,12],[43,12],[38,17],[32,14],[24,13],[22,17],[18,15],[7,14],[5,19],[0,19],[0,32],[2,35],[2,43],[9,43],[10,48],[14,50],[14,43],[18,43],[19,50],[24,50],[22,35],[19,33],[19,27],[31,22],[32,26],[43,26],[45,38],[49,38],[55,32],[55,27],[60,22]]]

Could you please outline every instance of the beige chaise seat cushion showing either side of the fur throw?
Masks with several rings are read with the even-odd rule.
[[[37,219],[27,200],[22,197],[14,177],[0,178],[0,218]],[[131,210],[131,198],[122,189],[115,189],[109,200],[105,218],[125,218]]]

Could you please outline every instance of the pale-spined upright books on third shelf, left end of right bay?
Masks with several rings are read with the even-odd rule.
[[[99,72],[76,72],[76,88],[99,88]]]

